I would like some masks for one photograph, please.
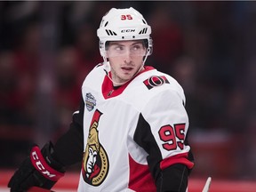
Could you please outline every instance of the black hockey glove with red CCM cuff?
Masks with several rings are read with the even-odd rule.
[[[9,181],[11,192],[26,191],[33,186],[51,189],[65,173],[63,165],[52,159],[52,152],[51,142],[45,144],[41,151],[35,145]]]

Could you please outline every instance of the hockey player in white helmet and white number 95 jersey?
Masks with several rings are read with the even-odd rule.
[[[54,145],[31,149],[8,184],[12,192],[50,189],[77,162],[78,191],[186,191],[194,163],[185,96],[171,76],[144,65],[150,34],[132,7],[102,18],[97,35],[104,61],[86,76],[79,111]]]

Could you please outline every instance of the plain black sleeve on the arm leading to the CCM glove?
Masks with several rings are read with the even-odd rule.
[[[81,100],[79,111],[72,116],[68,132],[64,133],[54,146],[52,157],[65,166],[76,164],[83,159],[84,151],[84,100]]]

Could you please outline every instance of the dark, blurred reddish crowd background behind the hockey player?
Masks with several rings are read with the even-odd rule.
[[[102,61],[100,20],[130,6],[153,31],[147,65],[176,78],[187,96],[191,177],[255,180],[253,1],[0,2],[0,170],[68,130],[84,77]]]

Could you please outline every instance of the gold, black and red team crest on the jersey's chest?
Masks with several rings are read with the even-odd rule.
[[[82,174],[84,181],[92,186],[100,186],[108,175],[108,155],[100,145],[97,130],[102,113],[97,109],[92,117],[87,145],[84,151]]]

